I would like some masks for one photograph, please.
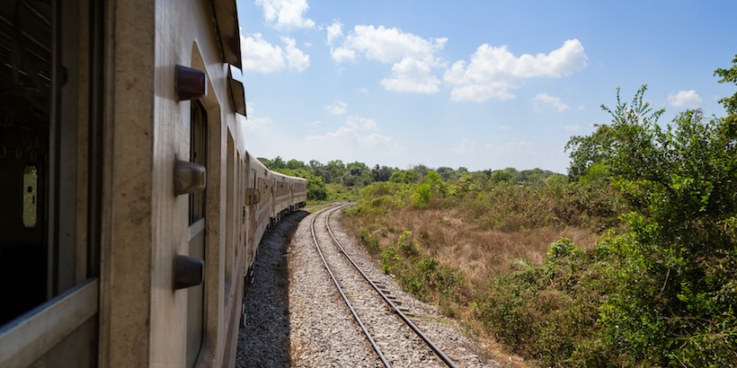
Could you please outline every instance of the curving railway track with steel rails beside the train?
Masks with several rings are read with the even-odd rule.
[[[325,209],[312,218],[311,232],[320,258],[339,294],[359,324],[378,359],[386,367],[448,366],[456,364],[405,314],[401,302],[371,281],[330,228],[330,216],[342,206]]]

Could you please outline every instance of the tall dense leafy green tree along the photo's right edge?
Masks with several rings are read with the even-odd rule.
[[[737,363],[737,120],[662,110],[644,102],[608,111],[613,184],[634,208],[632,231],[602,250],[619,259],[617,293],[601,307],[605,349],[621,364]],[[596,132],[595,132],[596,134]]]

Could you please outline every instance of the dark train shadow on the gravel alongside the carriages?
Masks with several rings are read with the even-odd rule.
[[[264,234],[245,288],[245,327],[238,332],[238,367],[289,367],[289,275],[287,246],[309,215],[297,211]],[[249,281],[249,280],[246,280]]]

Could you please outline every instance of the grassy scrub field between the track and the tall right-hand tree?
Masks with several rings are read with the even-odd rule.
[[[563,366],[592,338],[601,277],[586,265],[624,209],[607,188],[566,180],[431,177],[370,185],[344,219],[405,290],[513,354]]]

